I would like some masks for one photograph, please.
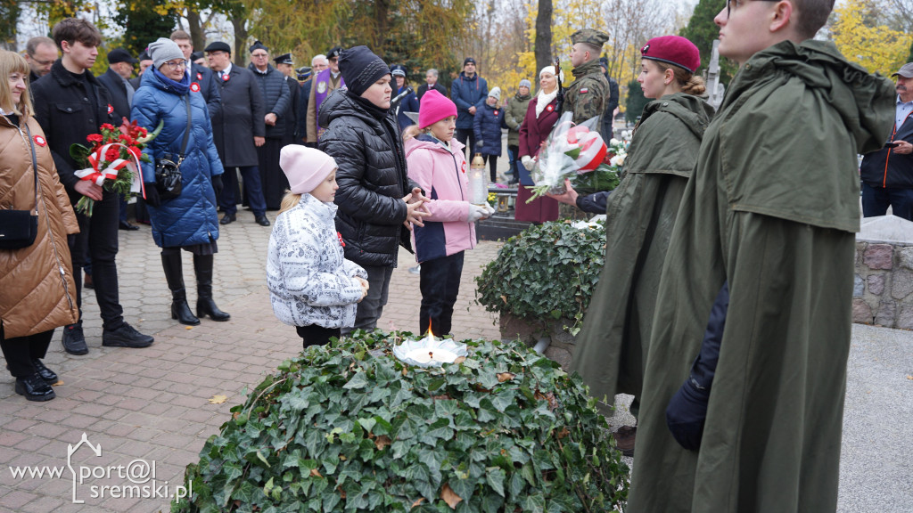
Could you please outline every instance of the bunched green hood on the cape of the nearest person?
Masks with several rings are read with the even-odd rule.
[[[739,101],[757,82],[772,79],[780,72],[801,79],[807,88],[816,89],[828,99],[840,113],[846,130],[853,133],[857,153],[875,151],[887,141],[893,120],[886,120],[883,113],[886,101],[893,107],[894,84],[847,61],[833,43],[825,41],[782,41],[758,52],[729,84],[719,110]]]

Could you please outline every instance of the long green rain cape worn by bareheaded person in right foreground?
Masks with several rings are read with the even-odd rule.
[[[887,79],[831,43],[750,58],[708,127],[669,242],[627,511],[833,513],[850,345],[856,153],[894,117]],[[700,450],[666,405],[714,298],[729,312]]]

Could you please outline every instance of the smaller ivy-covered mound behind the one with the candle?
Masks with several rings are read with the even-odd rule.
[[[512,236],[476,277],[476,299],[488,311],[530,322],[571,319],[580,331],[605,261],[602,221],[575,228],[543,223]]]

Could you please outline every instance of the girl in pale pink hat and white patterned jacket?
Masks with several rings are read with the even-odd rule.
[[[368,273],[342,255],[336,231],[336,162],[320,150],[289,144],[279,153],[290,192],[269,236],[267,286],[273,312],[298,328],[304,348],[339,338],[355,323]]]

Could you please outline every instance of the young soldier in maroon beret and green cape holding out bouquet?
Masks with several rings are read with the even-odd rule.
[[[698,159],[700,140],[713,109],[698,96],[703,79],[694,76],[700,52],[685,37],[654,37],[641,48],[637,78],[646,98],[624,163],[625,176],[610,195],[552,195],[581,210],[606,214],[605,266],[588,315],[577,336],[571,364],[610,413],[615,393],[635,396],[637,414],[644,376],[656,286],[666,257],[685,184]],[[635,427],[615,432],[624,455],[633,455]]]

